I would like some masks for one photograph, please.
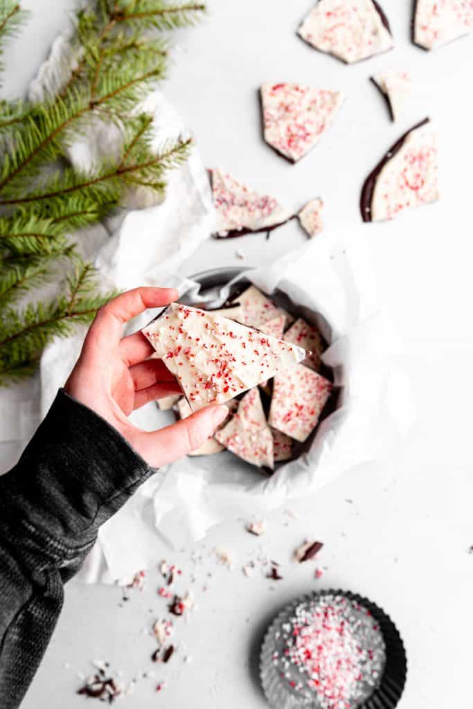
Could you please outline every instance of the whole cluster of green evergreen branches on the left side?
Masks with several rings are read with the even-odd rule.
[[[160,194],[166,174],[186,160],[191,141],[152,146],[152,118],[138,101],[165,76],[163,31],[191,26],[203,4],[165,0],[91,0],[77,12],[71,62],[62,86],[43,101],[0,101],[0,385],[29,376],[43,347],[89,323],[112,294],[100,294],[91,264],[71,235],[96,223],[136,186]],[[19,4],[0,0],[0,55],[24,21]],[[97,121],[112,121],[121,151],[87,172],[67,149]],[[69,268],[65,293],[21,305],[31,291]]]

